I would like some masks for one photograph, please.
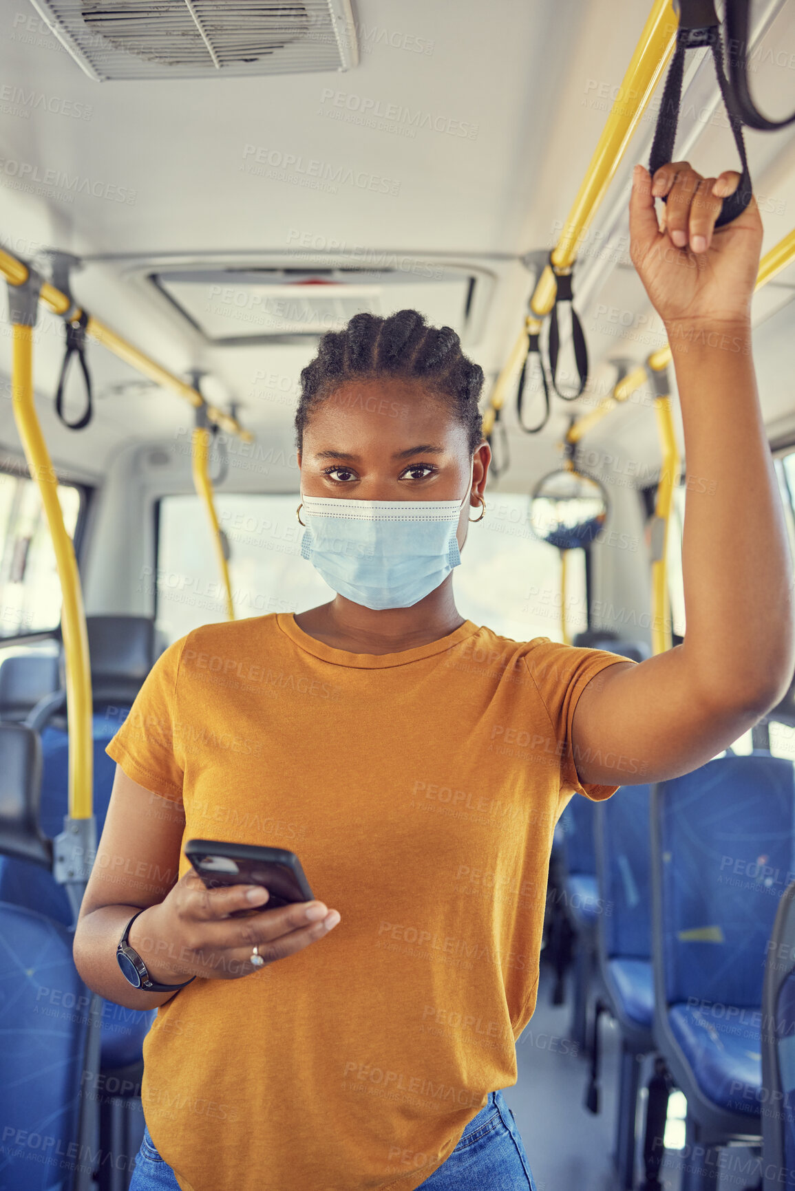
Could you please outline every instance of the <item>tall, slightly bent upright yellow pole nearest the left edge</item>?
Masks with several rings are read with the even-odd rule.
[[[20,282],[12,282],[20,283]],[[67,721],[69,731],[69,815],[93,813],[93,732],[91,666],[86,612],[80,573],[72,538],[63,524],[58,480],[50,460],[33,404],[33,329],[13,324],[12,405],[31,478],[42,494],[42,505],[52,538],[61,581],[63,611],[61,631],[66,653]]]

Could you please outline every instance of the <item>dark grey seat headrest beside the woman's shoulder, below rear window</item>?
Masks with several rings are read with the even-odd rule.
[[[94,710],[131,704],[155,663],[155,622],[150,616],[88,616],[88,655]],[[63,653],[61,682],[64,682]]]

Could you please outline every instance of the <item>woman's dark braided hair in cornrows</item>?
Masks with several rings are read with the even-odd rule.
[[[327,331],[317,355],[300,374],[296,411],[296,445],[303,453],[304,430],[312,410],[354,378],[396,376],[422,382],[440,397],[467,429],[468,450],[483,442],[478,398],[483,368],[461,351],[451,326],[429,326],[416,310],[398,310],[389,318],[354,314],[342,331]]]

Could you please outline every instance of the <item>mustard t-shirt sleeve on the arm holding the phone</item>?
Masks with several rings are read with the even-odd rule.
[[[174,754],[176,680],[187,637],[160,655],[105,748],[129,778],[175,803],[182,802],[182,767]]]

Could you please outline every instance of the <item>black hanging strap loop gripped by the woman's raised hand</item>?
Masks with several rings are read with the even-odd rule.
[[[734,110],[728,80],[723,74],[723,45],[712,0],[679,0],[679,27],[676,33],[676,49],[663,89],[663,100],[648,157],[648,173],[653,177],[660,166],[665,166],[673,160],[673,143],[676,141],[679,106],[682,104],[684,52],[685,50],[701,49],[704,45],[712,49],[718,85],[743,166],[739,185],[734,194],[729,194],[727,199],[723,199],[721,212],[715,220],[715,227],[722,227],[725,224],[737,219],[745,211],[753,192],[749,162],[745,155],[745,142],[743,139],[743,121]],[[663,197],[663,201],[666,201],[666,197]]]

